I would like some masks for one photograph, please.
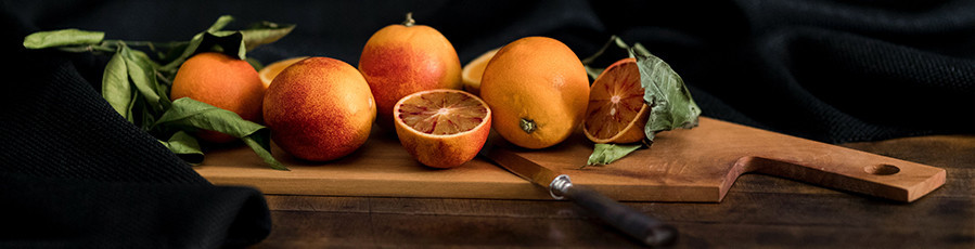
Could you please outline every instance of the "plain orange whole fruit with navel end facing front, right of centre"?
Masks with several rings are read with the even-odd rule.
[[[564,141],[582,122],[587,77],[564,43],[527,37],[504,45],[490,60],[480,97],[493,112],[498,134],[522,147],[544,148]]]

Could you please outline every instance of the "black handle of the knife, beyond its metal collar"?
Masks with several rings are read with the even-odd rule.
[[[677,230],[673,226],[617,202],[592,188],[569,185],[560,194],[647,246],[667,246],[677,240]]]

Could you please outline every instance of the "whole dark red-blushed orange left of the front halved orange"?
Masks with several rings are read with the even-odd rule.
[[[274,77],[264,99],[264,117],[282,149],[300,159],[328,161],[365,143],[375,103],[355,67],[309,57]]]

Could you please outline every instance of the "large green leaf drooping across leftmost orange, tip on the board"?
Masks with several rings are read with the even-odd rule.
[[[284,165],[271,156],[269,130],[261,124],[244,120],[233,112],[193,99],[181,97],[174,101],[169,110],[156,121],[155,127],[161,126],[213,130],[240,137],[271,168],[287,170]]]

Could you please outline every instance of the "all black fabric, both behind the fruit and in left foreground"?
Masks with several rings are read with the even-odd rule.
[[[99,96],[104,54],[26,51],[40,30],[188,40],[219,15],[297,24],[249,53],[357,65],[403,13],[462,63],[525,36],[588,56],[611,35],[683,77],[704,115],[828,143],[975,132],[975,1],[2,1],[0,247],[240,247],[261,194],[213,186]],[[604,62],[608,63],[608,62]]]

